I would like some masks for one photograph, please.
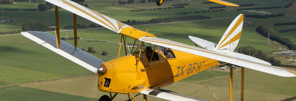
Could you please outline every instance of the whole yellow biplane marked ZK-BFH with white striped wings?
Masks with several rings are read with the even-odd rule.
[[[258,58],[233,52],[237,47],[242,33],[244,19],[242,14],[234,19],[218,44],[194,36],[189,36],[189,38],[196,44],[196,46],[190,46],[167,39],[157,38],[147,31],[140,31],[139,29],[109,18],[108,16],[88,9],[70,0],[45,1],[56,5],[57,35],[52,36],[49,33],[40,31],[25,31],[21,34],[96,73],[98,75],[97,87],[99,90],[110,92],[110,97],[108,95],[103,95],[99,101],[113,100],[119,93],[128,94],[128,96],[130,95],[134,100],[136,99],[131,93],[138,93],[138,95],[143,94],[144,101],[147,101],[147,95],[171,101],[205,101],[181,95],[170,90],[160,89],[160,87],[170,85],[211,68],[221,61],[283,77],[296,76],[296,72],[293,70],[275,67]],[[135,43],[136,41],[140,41],[141,46],[139,50],[127,51],[126,45],[124,45],[125,56],[119,57],[119,48],[118,58],[104,62],[83,50],[76,48],[77,38],[75,38],[74,46],[60,40],[57,6],[73,13],[75,26],[77,14],[121,34],[120,48],[122,40],[123,43],[126,44],[126,36],[135,39]],[[77,31],[75,30],[77,29],[74,27],[74,37],[77,37]],[[135,46],[135,43],[133,46]],[[154,46],[145,47],[144,43],[154,44]],[[198,48],[197,45],[202,48]],[[156,46],[161,46],[161,48],[156,49]],[[128,55],[128,53],[131,54]],[[232,82],[232,74],[230,82]],[[230,86],[232,87],[232,85]],[[111,93],[115,94],[112,96]],[[232,96],[232,92],[230,92],[230,96]]]

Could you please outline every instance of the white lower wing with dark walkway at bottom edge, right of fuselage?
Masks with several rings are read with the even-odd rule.
[[[153,97],[162,98],[165,100],[170,100],[170,101],[208,101],[208,100],[202,100],[199,98],[182,95],[166,89],[142,90],[140,93],[145,95],[150,95]]]

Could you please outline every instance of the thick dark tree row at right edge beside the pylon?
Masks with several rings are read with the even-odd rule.
[[[274,32],[271,28],[266,28],[264,26],[259,26],[256,28],[256,31],[259,32],[262,36],[267,37],[268,33],[270,39],[276,42],[279,42],[283,45],[286,45],[291,50],[296,50],[296,45],[290,41],[289,38],[281,36],[280,33]]]

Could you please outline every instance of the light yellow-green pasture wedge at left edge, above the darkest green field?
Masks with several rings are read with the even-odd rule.
[[[30,70],[8,65],[0,65],[0,72],[0,81],[4,82],[5,84],[30,83],[39,80],[51,80],[70,77],[68,75],[41,72],[37,70]]]

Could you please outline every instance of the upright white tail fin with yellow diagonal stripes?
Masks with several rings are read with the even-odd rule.
[[[229,25],[223,37],[218,43],[218,46],[213,51],[227,49],[230,51],[234,51],[239,43],[239,39],[242,33],[242,25],[244,21],[244,15],[240,14],[237,16],[232,23]]]

